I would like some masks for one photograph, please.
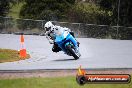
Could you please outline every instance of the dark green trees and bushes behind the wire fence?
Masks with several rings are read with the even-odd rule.
[[[19,17],[24,19],[105,25],[117,25],[118,23],[120,26],[132,25],[132,0],[77,1],[78,0],[0,0],[0,16],[6,16],[11,6],[16,2],[24,2],[19,14]],[[120,9],[118,9],[118,7]]]

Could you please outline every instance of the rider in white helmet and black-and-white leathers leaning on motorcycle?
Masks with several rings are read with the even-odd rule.
[[[44,28],[45,28],[45,36],[48,39],[49,43],[54,44],[52,48],[53,52],[61,51],[61,48],[58,47],[58,45],[54,42],[56,33],[59,33],[61,31],[68,31],[74,37],[74,33],[69,28],[54,25],[51,21],[46,22]],[[80,43],[77,42],[77,44],[79,46]]]

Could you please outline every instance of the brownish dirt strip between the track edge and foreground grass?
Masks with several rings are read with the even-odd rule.
[[[87,74],[132,74],[131,69],[124,70],[86,70]],[[30,77],[66,77],[76,76],[77,70],[35,70],[35,71],[0,71],[0,79]]]

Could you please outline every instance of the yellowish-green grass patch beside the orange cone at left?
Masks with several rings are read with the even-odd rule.
[[[19,56],[19,51],[17,50],[0,49],[0,63],[18,61],[18,60],[28,59],[28,58],[30,58],[29,54],[27,54],[27,57],[21,58]]]

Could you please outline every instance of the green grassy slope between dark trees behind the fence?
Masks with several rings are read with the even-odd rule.
[[[18,4],[15,4],[12,6],[12,8],[9,11],[8,16],[11,16],[13,18],[19,18],[19,13],[21,10],[21,7],[23,6],[24,2],[20,2]]]

